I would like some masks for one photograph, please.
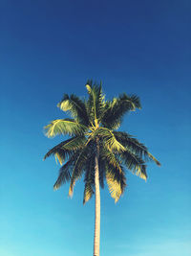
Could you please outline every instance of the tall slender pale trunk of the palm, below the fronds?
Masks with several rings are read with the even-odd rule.
[[[95,200],[94,256],[99,256],[99,243],[100,243],[100,191],[99,191],[98,157],[99,157],[99,149],[98,149],[98,146],[97,146],[96,159],[95,159],[96,200]]]

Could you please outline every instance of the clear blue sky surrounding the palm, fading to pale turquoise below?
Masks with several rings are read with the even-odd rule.
[[[94,198],[68,185],[44,154],[61,137],[43,127],[65,117],[64,93],[103,81],[108,98],[138,94],[142,110],[122,130],[161,162],[144,182],[127,172],[117,204],[101,192],[101,256],[191,255],[191,2],[0,2],[1,256],[93,254]]]

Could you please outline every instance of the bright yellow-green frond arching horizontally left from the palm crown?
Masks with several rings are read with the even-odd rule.
[[[48,138],[59,134],[67,135],[82,135],[88,128],[76,123],[74,119],[57,119],[53,120],[51,124],[45,127],[46,136]]]

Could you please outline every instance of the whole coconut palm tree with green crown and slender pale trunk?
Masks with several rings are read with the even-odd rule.
[[[69,195],[72,197],[74,184],[84,177],[85,204],[96,195],[94,256],[99,256],[100,236],[100,192],[106,180],[111,197],[117,200],[126,186],[125,169],[146,180],[148,160],[159,161],[132,135],[117,131],[125,113],[141,108],[138,96],[125,93],[106,101],[101,84],[86,84],[88,99],[74,94],[65,94],[57,105],[72,118],[56,119],[45,127],[46,135],[58,134],[71,137],[48,151],[44,157],[54,155],[61,168],[53,186],[56,190],[70,182]]]

